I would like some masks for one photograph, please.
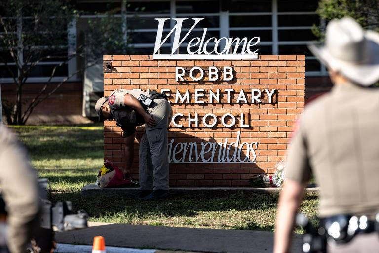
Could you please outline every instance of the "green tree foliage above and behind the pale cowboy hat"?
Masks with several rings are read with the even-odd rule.
[[[320,0],[317,14],[322,22],[313,25],[313,33],[324,40],[325,26],[334,18],[350,16],[364,29],[379,31],[379,1],[378,0]]]

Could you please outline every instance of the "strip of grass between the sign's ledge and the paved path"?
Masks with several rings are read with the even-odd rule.
[[[125,196],[81,199],[79,193],[69,191],[54,192],[52,198],[71,200],[75,210],[84,209],[93,221],[261,231],[273,231],[278,200],[277,195],[267,194],[187,194],[144,202]],[[302,204],[310,217],[316,215],[314,198],[306,196]],[[297,228],[297,233],[303,230]]]

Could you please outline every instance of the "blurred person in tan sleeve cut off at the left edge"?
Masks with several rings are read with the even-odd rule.
[[[26,251],[39,228],[40,199],[35,171],[16,137],[0,124],[0,185],[7,211],[6,244],[11,253]],[[0,241],[4,233],[1,227]]]

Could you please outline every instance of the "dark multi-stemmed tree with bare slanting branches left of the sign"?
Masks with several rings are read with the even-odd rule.
[[[76,44],[76,34],[68,31],[76,25],[79,14],[68,0],[0,1],[0,62],[5,64],[16,84],[14,101],[2,102],[8,124],[24,125],[38,104],[85,68],[100,63],[103,54],[129,52],[128,41],[120,32],[126,29],[122,25],[123,15],[106,13],[90,22],[84,42]],[[85,64],[60,82],[53,82],[59,69],[74,58],[81,58]],[[32,70],[43,61],[61,63],[53,65],[48,81],[38,94],[25,101],[23,87]],[[15,63],[17,71],[12,70],[9,62]]]

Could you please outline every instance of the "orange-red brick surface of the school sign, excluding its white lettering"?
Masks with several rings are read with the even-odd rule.
[[[170,89],[173,111],[175,113],[198,113],[200,117],[213,113],[218,118],[225,113],[236,116],[234,127],[205,127],[201,122],[199,127],[187,127],[186,119],[179,119],[185,127],[169,128],[169,143],[172,138],[178,142],[229,142],[234,141],[237,131],[241,131],[242,142],[258,142],[256,163],[187,163],[170,164],[171,186],[246,186],[253,174],[272,173],[275,164],[285,159],[285,153],[291,131],[304,107],[304,55],[261,55],[259,60],[201,60],[175,61],[152,60],[147,55],[105,55],[104,61],[112,61],[113,72],[104,73],[104,95],[109,96],[115,89]],[[231,66],[234,69],[234,79],[231,81],[193,81],[188,75],[182,82],[175,81],[175,66]],[[275,103],[232,103],[226,98],[219,104],[175,104],[176,90],[193,91],[199,89],[233,88],[238,96],[241,89],[252,88],[275,89]],[[248,95],[250,97],[250,95]],[[191,92],[191,97],[193,94]],[[264,98],[262,98],[264,99]],[[204,99],[207,101],[207,98]],[[240,127],[240,113],[249,117],[250,127]],[[201,119],[201,118],[200,118]],[[104,155],[118,166],[123,167],[124,147],[122,131],[114,121],[104,122]],[[132,174],[138,175],[138,140],[144,128],[137,128],[135,140],[135,159]],[[242,153],[246,150],[242,150]]]

